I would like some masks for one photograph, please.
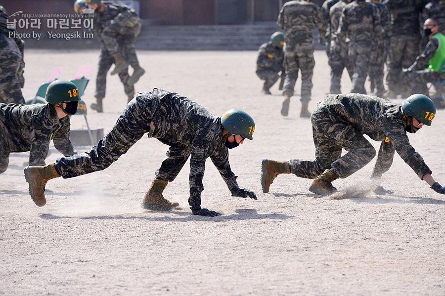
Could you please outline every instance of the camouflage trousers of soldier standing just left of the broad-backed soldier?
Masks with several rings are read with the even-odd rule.
[[[329,93],[339,94],[341,92],[341,78],[343,70],[346,68],[349,77],[354,74],[354,69],[349,61],[348,46],[335,40],[331,41],[331,48],[329,51],[329,66],[331,67],[331,86]]]

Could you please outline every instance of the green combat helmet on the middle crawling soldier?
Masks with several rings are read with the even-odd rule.
[[[252,140],[255,122],[249,114],[240,109],[231,109],[221,116],[221,125],[231,134]]]

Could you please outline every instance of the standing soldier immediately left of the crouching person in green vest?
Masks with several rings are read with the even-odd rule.
[[[390,47],[387,59],[386,83],[388,90],[385,97],[396,98],[401,93],[403,98],[409,90],[402,85],[403,68],[408,68],[419,54],[421,0],[384,0],[391,14]]]

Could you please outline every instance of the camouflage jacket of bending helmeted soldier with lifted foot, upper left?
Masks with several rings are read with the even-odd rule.
[[[106,5],[105,11],[99,9],[94,11],[94,28],[91,30],[97,39],[102,42],[101,32],[106,27],[113,27],[118,34],[126,34],[138,22],[140,18],[131,7],[114,3],[102,2]]]

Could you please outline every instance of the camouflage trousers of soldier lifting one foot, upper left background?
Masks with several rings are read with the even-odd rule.
[[[107,85],[107,73],[111,66],[114,64],[114,58],[111,56],[110,52],[102,46],[99,56],[99,67],[97,70],[96,77],[96,92],[95,97],[105,97],[105,89]],[[127,84],[130,78],[128,74],[128,67],[118,73],[119,79],[124,85],[124,91],[127,96],[134,95],[134,85]]]

